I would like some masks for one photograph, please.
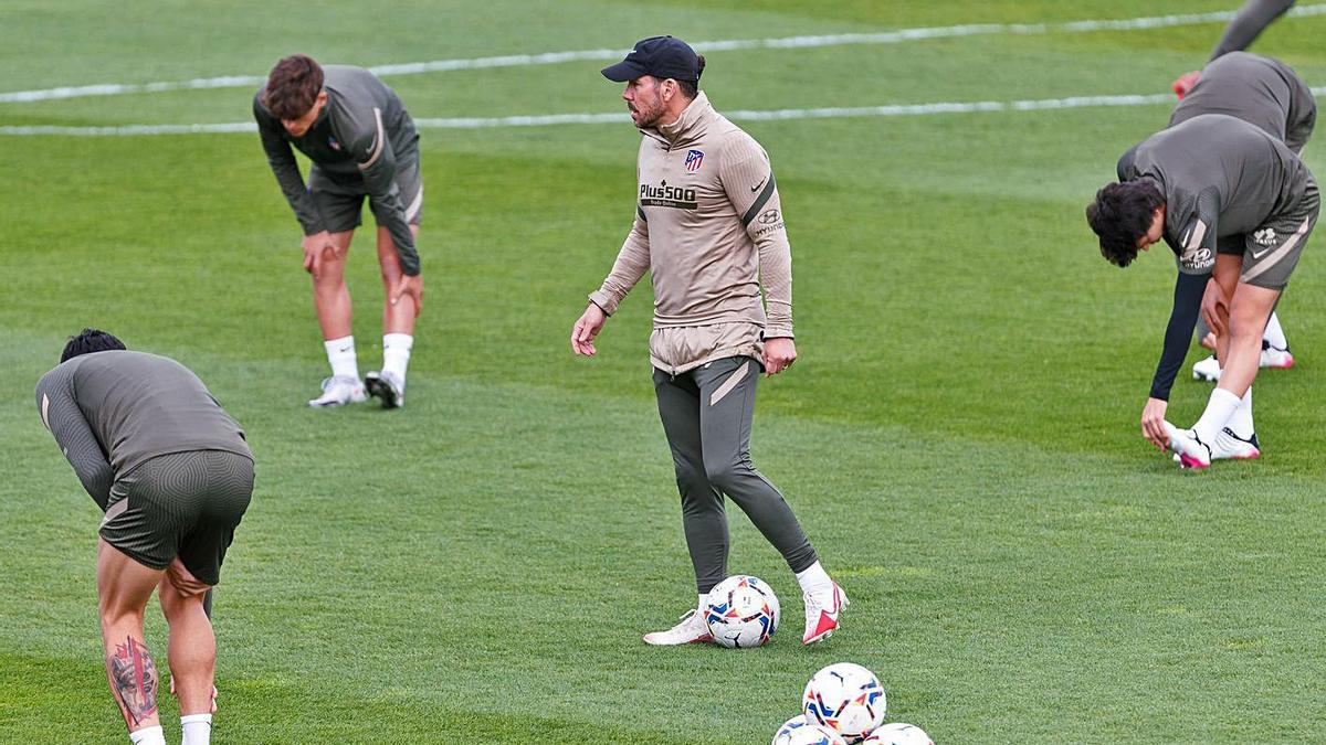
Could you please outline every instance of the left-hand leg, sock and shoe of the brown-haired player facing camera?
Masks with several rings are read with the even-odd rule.
[[[329,245],[317,252],[316,260],[308,266],[313,276],[313,308],[318,314],[328,362],[332,365],[332,376],[322,382],[322,395],[310,400],[309,406],[334,407],[366,398],[354,351],[350,290],[345,284],[345,262],[351,237],[354,231],[330,233]]]

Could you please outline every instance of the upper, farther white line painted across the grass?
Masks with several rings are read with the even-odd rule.
[[[1299,5],[1290,8],[1289,16],[1326,15],[1326,4]],[[841,33],[829,36],[790,36],[781,38],[729,38],[720,41],[699,41],[693,46],[700,52],[729,52],[737,49],[806,49],[813,46],[842,46],[849,44],[900,44],[927,38],[952,38],[980,34],[1045,34],[1045,33],[1085,33],[1095,30],[1155,29],[1183,25],[1225,23],[1235,17],[1233,11],[1212,13],[1185,13],[1176,16],[1150,16],[1119,20],[1086,20],[1057,24],[965,24],[934,28],[911,28],[879,33]],[[558,65],[562,62],[586,60],[617,60],[625,49],[582,49],[577,52],[545,52],[542,54],[505,54],[500,57],[471,57],[461,60],[434,60],[431,62],[404,62],[399,65],[379,65],[369,68],[379,76],[408,76],[447,70],[476,70],[483,68],[525,68],[536,65]],[[126,95],[134,93],[160,93],[167,90],[199,90],[212,87],[259,86],[267,80],[260,76],[223,76],[194,78],[186,81],[164,81],[149,84],[98,84],[40,90],[13,90],[0,93],[0,103],[30,103],[60,98],[82,98],[89,95]]]

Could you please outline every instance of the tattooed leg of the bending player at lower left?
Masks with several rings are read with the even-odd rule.
[[[97,544],[97,604],[106,651],[106,680],[134,742],[164,742],[156,695],[160,679],[143,640],[143,608],[163,571]]]

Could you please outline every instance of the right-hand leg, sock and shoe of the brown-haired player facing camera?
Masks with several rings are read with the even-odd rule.
[[[410,233],[419,237],[419,225],[410,225]],[[378,265],[382,269],[382,371],[365,376],[369,394],[382,400],[383,408],[396,408],[404,403],[406,369],[414,349],[415,318],[419,305],[410,294],[400,294],[400,257],[391,232],[378,228]]]

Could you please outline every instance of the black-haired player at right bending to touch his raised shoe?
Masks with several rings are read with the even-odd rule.
[[[1317,182],[1284,142],[1223,114],[1151,135],[1118,172],[1086,209],[1102,256],[1127,266],[1164,240],[1179,269],[1142,435],[1189,468],[1258,457],[1252,382],[1261,334],[1317,223]],[[1166,410],[1199,310],[1216,331],[1224,374],[1197,423],[1179,430]]]

